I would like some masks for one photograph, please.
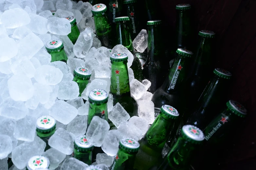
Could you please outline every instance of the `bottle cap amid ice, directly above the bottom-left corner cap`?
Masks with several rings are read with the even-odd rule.
[[[36,120],[36,131],[47,133],[56,129],[56,120],[50,115],[40,116]]]

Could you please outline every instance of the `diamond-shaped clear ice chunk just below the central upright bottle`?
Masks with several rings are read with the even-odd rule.
[[[120,105],[120,103],[117,103],[111,112],[109,112],[108,115],[109,120],[111,120],[114,125],[118,128],[119,125],[124,122],[129,120],[131,117],[130,115],[127,113],[127,111],[123,108],[122,105]]]

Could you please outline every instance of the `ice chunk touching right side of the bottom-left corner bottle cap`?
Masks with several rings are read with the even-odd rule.
[[[59,166],[59,164],[65,159],[66,155],[57,149],[51,148],[46,150],[43,156],[47,157],[50,161],[49,169],[53,170]]]

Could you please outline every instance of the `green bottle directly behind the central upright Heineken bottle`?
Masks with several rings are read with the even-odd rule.
[[[130,68],[134,71],[134,78],[142,82],[143,78],[141,63],[134,53],[129,20],[129,17],[115,18],[117,30],[117,44],[122,44],[133,54],[134,59]]]

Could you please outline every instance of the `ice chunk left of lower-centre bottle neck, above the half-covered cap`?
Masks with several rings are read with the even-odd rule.
[[[67,131],[73,133],[75,136],[84,135],[87,129],[87,115],[75,117],[67,125]]]

